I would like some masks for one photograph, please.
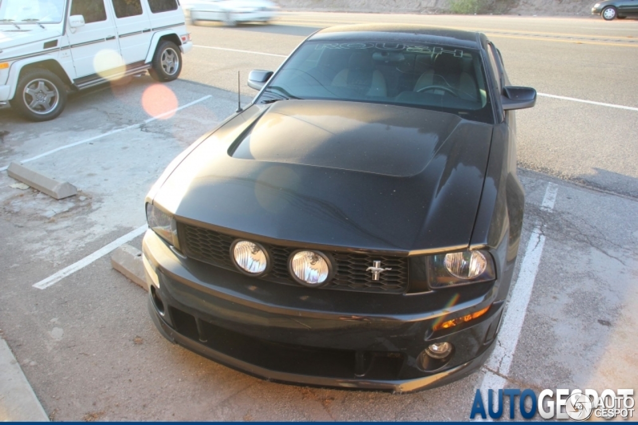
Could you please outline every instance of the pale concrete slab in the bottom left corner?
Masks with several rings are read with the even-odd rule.
[[[0,422],[48,422],[6,341],[0,338]]]

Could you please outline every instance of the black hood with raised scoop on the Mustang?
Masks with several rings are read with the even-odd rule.
[[[461,248],[470,242],[491,135],[489,124],[420,108],[252,106],[193,149],[154,202],[177,220],[272,242]]]

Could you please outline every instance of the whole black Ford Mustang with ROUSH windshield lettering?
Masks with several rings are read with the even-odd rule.
[[[484,34],[310,36],[146,198],[149,309],[170,341],[281,382],[409,392],[498,332],[523,221],[511,87]]]

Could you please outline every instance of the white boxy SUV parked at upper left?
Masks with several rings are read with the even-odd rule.
[[[179,0],[0,0],[0,104],[54,119],[69,90],[174,80],[192,47]]]

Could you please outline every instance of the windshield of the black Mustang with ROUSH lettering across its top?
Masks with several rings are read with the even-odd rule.
[[[391,103],[493,123],[478,50],[387,41],[308,41],[260,101],[323,99]]]

